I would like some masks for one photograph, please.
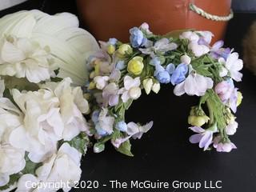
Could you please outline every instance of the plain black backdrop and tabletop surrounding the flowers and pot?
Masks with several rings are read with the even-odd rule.
[[[234,47],[242,56],[242,38],[250,24],[256,20],[254,1],[235,1],[236,13],[226,33],[226,46]],[[249,5],[248,2],[251,4]],[[240,5],[239,5],[240,4]],[[248,6],[249,5],[249,6]],[[244,11],[249,7],[250,10]],[[68,11],[77,14],[74,0],[40,1],[31,0],[0,12],[0,16],[17,10],[40,9],[49,14]],[[255,32],[256,33],[256,32]],[[256,43],[256,42],[252,42]],[[118,154],[112,146],[107,146],[102,154],[94,154],[90,149],[82,161],[82,180],[98,180],[108,186],[98,190],[72,191],[140,191],[111,190],[110,180],[130,182],[147,179],[171,182],[203,182],[205,180],[222,181],[221,190],[225,192],[256,191],[256,77],[248,70],[243,70],[244,78],[238,87],[244,96],[238,109],[239,128],[231,137],[238,146],[229,154],[213,151],[203,152],[197,145],[189,143],[192,134],[187,129],[187,116],[190,106],[197,104],[198,98],[175,97],[171,86],[162,86],[160,94],[143,95],[134,102],[128,114],[128,122],[149,122],[154,120],[154,127],[142,140],[133,141],[134,158]],[[150,190],[143,190],[150,191]],[[152,190],[152,191],[195,191],[195,190]]]

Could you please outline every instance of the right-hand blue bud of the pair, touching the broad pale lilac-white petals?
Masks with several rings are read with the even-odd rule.
[[[173,85],[177,85],[186,79],[186,74],[188,72],[188,65],[182,63],[177,66],[174,73],[171,75],[170,82]]]

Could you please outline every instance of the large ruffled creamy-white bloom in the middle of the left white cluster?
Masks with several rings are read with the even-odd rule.
[[[30,152],[33,162],[42,162],[57,149],[64,129],[58,98],[50,90],[19,92],[12,90],[14,101],[24,114],[24,124],[10,134],[11,145]]]

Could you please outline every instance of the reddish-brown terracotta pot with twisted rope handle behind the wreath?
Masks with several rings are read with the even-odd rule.
[[[231,0],[77,0],[82,22],[98,40],[129,39],[128,30],[150,25],[154,34],[166,34],[171,30],[210,30],[214,41],[222,39],[227,22],[216,22],[190,10],[190,3],[207,13],[226,16],[230,14]]]

